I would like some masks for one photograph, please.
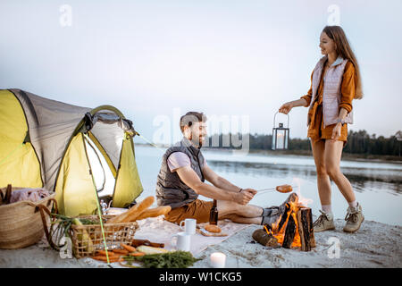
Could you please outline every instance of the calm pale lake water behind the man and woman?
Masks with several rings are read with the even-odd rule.
[[[144,187],[142,197],[155,196],[156,176],[164,149],[136,145],[138,172]],[[230,150],[203,150],[207,164],[220,176],[240,188],[267,189],[282,184],[298,186],[302,197],[309,198],[313,213],[321,208],[316,186],[314,158],[311,156],[239,156]],[[402,164],[341,161],[341,171],[348,177],[366,220],[402,225]],[[205,198],[200,196],[205,200]],[[256,195],[250,204],[280,205],[288,194],[276,191]],[[332,183],[332,212],[344,218],[348,203]]]

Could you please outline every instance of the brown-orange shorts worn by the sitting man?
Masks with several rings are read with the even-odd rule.
[[[214,201],[196,199],[186,206],[173,208],[168,214],[164,214],[164,219],[171,223],[180,223],[186,218],[194,218],[197,223],[207,223],[213,206]]]

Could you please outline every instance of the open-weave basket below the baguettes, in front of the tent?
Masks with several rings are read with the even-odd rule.
[[[108,250],[121,248],[120,244],[131,245],[134,234],[138,230],[138,223],[107,223],[114,215],[103,215],[105,240]],[[99,222],[97,215],[80,216]],[[72,251],[74,257],[90,257],[96,254],[96,250],[105,249],[104,237],[100,224],[71,225]],[[89,240],[90,239],[90,240]]]

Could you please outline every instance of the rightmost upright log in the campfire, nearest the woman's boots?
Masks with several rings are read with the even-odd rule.
[[[297,211],[298,234],[300,235],[301,250],[310,251],[315,248],[314,226],[311,208],[301,207]]]

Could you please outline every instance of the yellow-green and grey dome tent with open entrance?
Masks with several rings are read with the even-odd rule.
[[[111,105],[92,109],[0,89],[0,187],[53,190],[59,213],[69,216],[95,214],[99,198],[129,206],[143,190],[135,134]]]

